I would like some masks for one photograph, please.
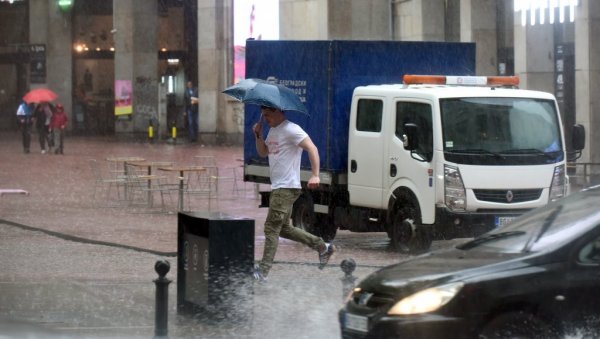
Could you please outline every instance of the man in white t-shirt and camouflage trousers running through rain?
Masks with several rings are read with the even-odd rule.
[[[258,154],[261,157],[269,157],[271,196],[265,221],[263,257],[254,268],[254,279],[266,282],[280,236],[316,250],[319,254],[319,269],[327,265],[336,248],[333,244],[326,243],[323,239],[290,225],[292,206],[302,194],[300,160],[303,150],[308,153],[312,172],[308,179],[308,188],[318,188],[321,183],[317,146],[300,126],[287,120],[280,109],[262,106],[261,112],[261,121],[254,125],[254,136]],[[266,139],[263,139],[263,120],[271,127]]]

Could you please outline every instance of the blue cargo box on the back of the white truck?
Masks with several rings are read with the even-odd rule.
[[[321,171],[347,169],[348,121],[354,88],[402,83],[404,74],[475,75],[475,44],[402,41],[246,42],[246,78],[292,88],[310,116],[287,112],[319,148]],[[245,105],[244,163],[268,161],[256,152],[252,126],[260,108]],[[265,136],[266,132],[265,130]],[[309,169],[306,152],[302,168]]]

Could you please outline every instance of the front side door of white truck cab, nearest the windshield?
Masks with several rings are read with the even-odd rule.
[[[397,101],[391,123],[386,124],[392,135],[388,156],[385,158],[384,184],[391,194],[395,186],[410,188],[419,198],[424,223],[433,222],[435,213],[434,166],[433,159],[433,117],[432,104],[427,101]],[[418,147],[416,150],[404,149],[402,137],[404,126],[412,123],[417,126]],[[387,201],[384,196],[384,201]]]

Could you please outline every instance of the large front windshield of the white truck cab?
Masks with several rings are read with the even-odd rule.
[[[440,100],[446,160],[533,165],[564,157],[554,101],[532,98]]]

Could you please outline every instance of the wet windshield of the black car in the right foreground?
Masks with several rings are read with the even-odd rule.
[[[457,248],[520,253],[559,247],[600,221],[599,199],[598,189],[569,196]]]

